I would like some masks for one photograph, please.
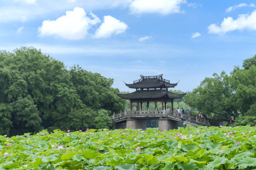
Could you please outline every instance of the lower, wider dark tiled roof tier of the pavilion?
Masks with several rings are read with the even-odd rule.
[[[182,98],[186,93],[183,94],[176,94],[168,92],[167,90],[138,90],[133,93],[127,93],[127,94],[118,94],[119,97],[122,99],[179,99]]]

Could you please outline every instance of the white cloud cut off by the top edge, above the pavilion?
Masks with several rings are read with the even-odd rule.
[[[134,0],[130,4],[132,13],[180,13],[180,4],[186,0]]]

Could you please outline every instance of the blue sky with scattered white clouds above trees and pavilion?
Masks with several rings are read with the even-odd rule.
[[[33,46],[114,78],[140,75],[184,92],[256,54],[256,3],[249,0],[0,0],[0,50]]]

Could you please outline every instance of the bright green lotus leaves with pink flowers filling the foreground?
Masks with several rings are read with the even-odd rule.
[[[55,130],[0,136],[0,169],[255,170],[256,127]]]

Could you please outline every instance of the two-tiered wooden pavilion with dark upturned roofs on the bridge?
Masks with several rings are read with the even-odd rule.
[[[149,102],[162,103],[162,110],[166,110],[166,102],[171,102],[171,110],[173,111],[173,100],[182,98],[186,93],[177,94],[168,92],[168,88],[175,87],[178,83],[171,84],[169,80],[162,78],[162,74],[159,76],[142,76],[141,79],[133,81],[133,84],[126,84],[129,88],[136,89],[133,93],[119,94],[117,95],[122,99],[128,99],[131,101],[131,110],[133,109],[133,102],[137,103],[139,110],[139,103],[147,102],[147,108],[149,108]]]

